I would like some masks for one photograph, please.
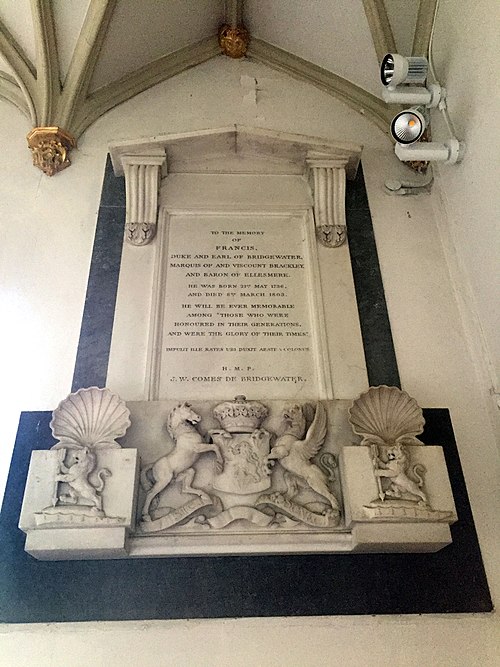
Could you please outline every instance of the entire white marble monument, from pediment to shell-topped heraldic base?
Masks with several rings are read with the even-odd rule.
[[[240,126],[112,147],[127,218],[110,389],[71,394],[51,422],[59,443],[33,452],[29,553],[451,541],[446,466],[439,443],[417,439],[421,409],[395,387],[366,391],[344,211],[360,152]]]

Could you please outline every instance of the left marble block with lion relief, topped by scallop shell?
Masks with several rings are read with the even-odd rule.
[[[129,410],[109,389],[70,394],[53,413],[59,442],[32,452],[19,527],[40,559],[117,558],[135,526],[139,456],[116,438]]]

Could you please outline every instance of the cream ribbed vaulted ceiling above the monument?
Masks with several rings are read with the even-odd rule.
[[[436,0],[0,0],[0,97],[33,127],[77,138],[102,114],[220,55],[244,25],[245,57],[336,96],[384,131],[378,60],[425,55]]]

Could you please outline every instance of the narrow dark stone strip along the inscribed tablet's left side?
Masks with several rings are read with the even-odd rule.
[[[71,391],[105,387],[125,228],[125,179],[108,156]]]

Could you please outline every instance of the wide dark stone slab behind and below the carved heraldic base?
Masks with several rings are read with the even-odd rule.
[[[22,414],[0,515],[0,622],[489,612],[491,598],[447,410],[424,410],[444,447],[458,523],[435,554],[37,561],[17,528],[33,449],[50,412]],[[328,662],[328,661],[327,661]]]

